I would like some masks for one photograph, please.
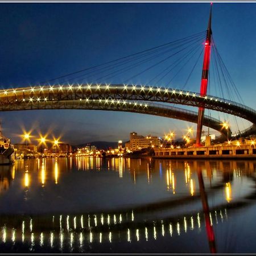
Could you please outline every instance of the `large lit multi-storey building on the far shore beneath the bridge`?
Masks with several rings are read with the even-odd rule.
[[[144,137],[133,132],[130,133],[130,141],[125,143],[125,147],[128,150],[135,151],[141,150],[142,148],[156,147],[160,145],[160,139],[156,136],[148,135]]]

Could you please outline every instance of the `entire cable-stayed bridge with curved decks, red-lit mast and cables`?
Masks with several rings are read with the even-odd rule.
[[[201,146],[200,139],[203,125],[219,131],[225,137],[229,137],[229,135],[233,137],[237,135],[246,137],[255,134],[255,110],[247,107],[245,104],[232,100],[232,90],[228,88],[228,81],[237,98],[241,98],[241,96],[236,86],[234,86],[229,73],[226,72],[225,75],[226,67],[216,50],[216,44],[212,38],[211,19],[212,6],[210,7],[207,31],[171,43],[166,43],[162,46],[146,49],[142,52],[134,53],[133,55],[121,57],[117,60],[108,61],[104,64],[72,72],[55,79],[50,79],[38,86],[0,90],[0,111],[93,109],[144,113],[176,118],[197,123],[196,146]],[[191,90],[184,88],[170,88],[168,86],[170,83],[168,82],[166,86],[158,86],[158,83],[162,79],[170,75],[175,68],[179,68],[179,64],[181,64],[182,61],[185,61],[184,65],[187,65],[192,56],[201,48],[201,46],[198,48],[198,45],[195,46],[195,44],[201,44],[203,38],[205,38],[204,49],[202,49],[199,55],[200,57],[204,51],[200,93],[191,92]],[[213,72],[213,77],[216,76],[216,80],[213,80],[216,82],[216,86],[219,84],[222,96],[224,96],[222,90],[226,86],[229,100],[225,97],[210,96],[207,94],[210,85],[211,49],[216,52],[216,59],[213,59],[213,66],[216,66],[216,73]],[[183,55],[177,57],[180,53]],[[167,57],[159,60],[159,57],[162,57],[164,54],[167,54]],[[108,79],[113,79],[114,76],[122,75],[124,72],[131,71],[131,69],[135,68],[137,73],[127,80],[130,81],[134,77],[141,76],[142,73],[151,71],[152,68],[159,67],[160,64],[167,64],[166,61],[174,57],[177,57],[174,62],[167,65],[165,68],[160,68],[158,75],[148,81],[150,85],[135,85],[131,84],[131,82],[124,84],[106,82]],[[196,60],[196,64],[199,57]],[[144,68],[141,72],[137,71],[137,68],[141,64],[148,63],[148,61],[152,60],[156,60],[156,63],[150,64],[149,67]],[[219,62],[219,66],[217,62]],[[189,73],[188,79],[191,77],[195,65],[191,73]],[[178,75],[182,68],[183,67],[179,68],[174,77]],[[225,86],[222,86],[220,83],[221,74],[224,76]],[[172,79],[174,79],[174,77],[172,77]],[[63,79],[68,82],[64,82]],[[100,82],[84,82],[84,79],[92,79]],[[169,82],[171,82],[172,79]],[[49,85],[51,81],[59,82],[57,84],[53,82],[53,85]],[[175,108],[172,106],[173,104],[196,107],[198,112]],[[249,121],[251,124],[249,127],[246,127],[244,131],[240,131],[238,128],[238,133],[232,134],[230,127],[222,126],[223,122],[220,121],[220,118],[216,119],[205,116],[205,109],[213,110],[217,113],[234,115],[235,117]]]

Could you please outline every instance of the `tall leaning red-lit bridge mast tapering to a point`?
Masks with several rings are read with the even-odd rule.
[[[210,16],[207,28],[207,36],[204,46],[204,62],[203,62],[203,72],[201,78],[201,88],[200,96],[205,97],[207,94],[207,84],[208,84],[208,75],[209,75],[209,65],[210,65],[210,45],[211,45],[211,36],[212,36],[212,3],[210,3]],[[203,128],[203,119],[204,119],[204,105],[199,107],[198,119],[197,119],[197,130],[196,130],[196,146],[201,146],[201,133]]]

